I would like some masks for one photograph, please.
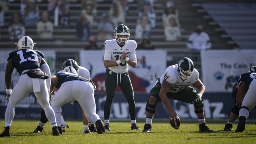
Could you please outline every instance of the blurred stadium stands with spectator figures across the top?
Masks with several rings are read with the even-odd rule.
[[[122,23],[137,49],[254,49],[256,5],[243,2],[0,0],[0,47],[28,35],[41,48],[102,49]]]

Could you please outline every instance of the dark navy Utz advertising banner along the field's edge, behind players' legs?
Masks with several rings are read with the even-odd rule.
[[[135,104],[137,106],[137,119],[146,118],[146,102],[148,101],[149,94],[137,92],[134,94]],[[106,95],[104,93],[95,94],[96,113],[104,119],[104,103]],[[190,103],[184,103],[177,100],[170,100],[172,107],[181,119],[197,119],[194,113],[194,106]],[[205,93],[203,95],[205,118],[207,119],[227,119],[230,115],[230,110],[233,107],[234,100],[231,93]],[[5,93],[0,93],[0,119],[4,119],[7,100]],[[41,117],[42,108],[39,105],[37,98],[31,93],[15,108],[15,118],[17,119],[37,119]],[[82,111],[78,103],[71,105],[65,104],[62,107],[63,117],[65,119],[82,120]],[[168,119],[169,111],[165,108],[164,104],[160,102],[156,107],[154,119]],[[250,112],[249,118],[256,118],[255,108]],[[124,95],[120,92],[116,93],[113,103],[111,105],[110,119],[130,119],[128,103]]]

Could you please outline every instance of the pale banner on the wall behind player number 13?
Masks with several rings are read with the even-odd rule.
[[[14,49],[15,50],[15,49]],[[5,67],[7,64],[8,54],[14,50],[0,50],[0,91],[5,92]],[[37,50],[37,49],[36,49]],[[41,51],[41,50],[40,50]],[[42,50],[45,60],[50,67],[51,74],[54,75],[56,73],[55,69],[55,50]],[[20,74],[14,69],[12,73],[12,88],[17,84],[18,79],[20,78]]]

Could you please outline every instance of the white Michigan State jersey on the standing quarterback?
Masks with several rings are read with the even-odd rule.
[[[128,40],[123,47],[120,47],[116,39],[106,40],[103,47],[105,48],[104,60],[110,60],[111,62],[117,61],[122,56],[123,52],[127,52],[127,57],[132,61],[137,61],[135,55],[135,49],[137,43],[134,40]],[[115,73],[126,73],[128,71],[128,64],[124,60],[122,63],[109,67],[111,71]]]

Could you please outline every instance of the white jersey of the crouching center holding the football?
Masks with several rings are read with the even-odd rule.
[[[175,64],[175,65],[168,66],[165,70],[165,73],[161,75],[159,79],[161,84],[164,79],[173,85],[170,88],[169,92],[179,92],[183,90],[185,87],[187,87],[188,85],[192,85],[195,82],[197,82],[199,79],[199,73],[197,69],[194,68],[191,77],[188,80],[183,81],[178,75],[178,65]]]

